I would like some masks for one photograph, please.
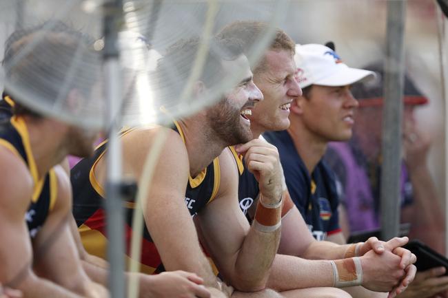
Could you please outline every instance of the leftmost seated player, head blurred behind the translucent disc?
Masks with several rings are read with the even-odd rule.
[[[92,85],[77,89],[52,63],[70,67],[68,55],[92,57],[79,32],[26,32],[7,46],[3,65],[8,86],[22,88],[54,103],[59,96],[77,103],[90,96]],[[30,46],[32,51],[21,50]],[[20,60],[14,57],[21,52]],[[52,57],[49,59],[48,57]],[[40,76],[39,76],[40,74]],[[45,74],[45,75],[44,75]],[[74,74],[87,76],[81,67]],[[39,88],[28,89],[30,86]],[[62,97],[64,98],[64,97]],[[0,283],[24,297],[108,297],[102,286],[85,275],[70,233],[70,180],[58,165],[68,153],[88,156],[96,134],[67,125],[15,103],[14,116],[0,127]]]

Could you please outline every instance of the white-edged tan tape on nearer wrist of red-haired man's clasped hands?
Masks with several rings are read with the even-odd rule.
[[[359,257],[336,259],[330,261],[330,263],[333,267],[334,286],[336,288],[363,284],[363,267]]]

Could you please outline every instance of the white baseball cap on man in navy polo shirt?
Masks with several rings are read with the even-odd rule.
[[[310,43],[296,45],[296,80],[301,88],[309,85],[345,86],[375,77],[369,70],[348,67],[334,50]]]

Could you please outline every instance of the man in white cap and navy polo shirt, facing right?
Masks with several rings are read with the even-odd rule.
[[[332,49],[323,45],[296,45],[294,60],[297,65],[296,79],[303,87],[303,95],[294,98],[291,103],[289,129],[268,132],[263,136],[278,147],[287,189],[314,237],[325,240],[327,233],[333,232],[329,240],[338,240],[336,242],[343,244],[343,235],[338,226],[334,174],[321,159],[329,141],[347,140],[352,135],[352,116],[358,102],[350,93],[349,85],[374,74],[347,67]],[[291,222],[292,215],[294,213],[289,218],[285,215],[283,222]],[[311,242],[300,253],[298,247],[305,244],[298,244],[303,239],[295,239],[298,232],[292,231],[294,226],[298,228],[297,224],[285,222],[279,253],[313,259],[334,258],[336,251],[347,248],[332,246],[329,242],[325,245]],[[360,253],[360,247],[363,246],[352,244],[345,250],[344,257],[364,255]],[[292,259],[290,262],[293,262]],[[412,276],[414,274],[411,273]],[[380,295],[366,292],[360,287],[346,290],[353,297]],[[402,290],[394,290],[389,297]]]

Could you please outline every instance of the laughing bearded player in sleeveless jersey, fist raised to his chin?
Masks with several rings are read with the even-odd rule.
[[[167,86],[161,88],[166,92],[161,98],[179,96],[199,45],[198,39],[179,41],[161,58],[157,71],[161,83]],[[214,50],[216,47],[218,51]],[[241,54],[238,43],[216,39],[210,49],[205,72],[194,83],[194,96],[207,96],[216,84],[223,83],[230,74],[241,73],[238,69],[243,70],[243,78],[236,87],[212,107],[174,120],[171,127],[137,127],[121,134],[123,169],[138,181],[143,171],[142,160],[160,134],[166,138],[155,168],[157,175],[147,182],[150,191],[143,206],[141,270],[146,273],[188,270],[204,279],[212,297],[232,294],[214,276],[199,245],[196,222],[201,242],[224,281],[239,290],[232,297],[279,297],[273,291],[263,290],[280,236],[280,163],[271,158],[276,149],[258,141],[247,145],[250,152],[246,158],[253,165],[263,194],[255,215],[258,224],[252,227],[239,209],[236,165],[232,153],[226,149],[252,139],[247,114],[263,95],[252,81],[247,58]],[[85,248],[99,256],[103,256],[107,239],[101,206],[105,150],[101,145],[94,158],[82,160],[72,169],[74,217]],[[132,203],[126,202],[128,233],[132,229]]]

